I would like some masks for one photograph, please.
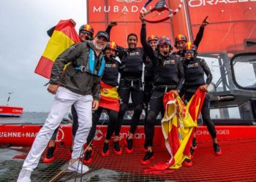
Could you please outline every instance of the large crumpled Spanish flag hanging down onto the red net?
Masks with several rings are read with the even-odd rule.
[[[195,95],[185,106],[179,96],[177,98],[173,97],[173,92],[165,93],[165,116],[162,119],[162,132],[166,149],[170,154],[170,160],[167,163],[159,163],[149,167],[144,170],[145,173],[159,173],[159,170],[178,169],[184,159],[190,159],[192,138],[205,97],[206,92],[197,89]]]

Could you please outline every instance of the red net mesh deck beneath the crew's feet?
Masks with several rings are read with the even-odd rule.
[[[212,143],[200,142],[192,159],[192,167],[166,170],[165,173],[148,175],[143,169],[169,158],[166,151],[157,151],[150,165],[140,165],[144,152],[142,146],[135,146],[132,154],[116,155],[110,145],[110,155],[101,157],[102,146],[94,146],[93,162],[89,172],[83,175],[68,170],[55,181],[255,181],[256,139],[221,141],[222,156],[216,157]],[[123,147],[124,150],[124,147]],[[0,181],[16,181],[29,148],[0,147]],[[44,153],[45,155],[45,153]],[[43,155],[43,156],[44,156]],[[50,181],[69,162],[69,149],[60,146],[53,163],[39,163],[31,175],[32,181]]]

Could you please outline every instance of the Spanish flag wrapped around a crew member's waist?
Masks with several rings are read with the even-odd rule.
[[[100,100],[99,106],[102,108],[108,108],[113,111],[119,111],[119,100],[117,87],[110,86],[104,82],[100,82]]]

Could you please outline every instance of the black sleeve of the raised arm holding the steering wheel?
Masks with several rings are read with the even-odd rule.
[[[142,23],[141,29],[140,29],[140,43],[142,44],[143,50],[148,55],[148,57],[151,59],[153,65],[157,65],[157,59],[154,55],[154,50],[152,47],[148,44],[146,41],[146,24]]]

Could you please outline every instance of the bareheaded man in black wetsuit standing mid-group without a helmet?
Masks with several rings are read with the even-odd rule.
[[[127,36],[128,48],[124,49],[123,47],[118,47],[118,57],[121,60],[121,77],[118,87],[121,105],[118,120],[121,121],[121,123],[124,120],[124,114],[128,108],[130,94],[132,96],[134,110],[131,127],[126,140],[127,153],[133,152],[133,136],[140,121],[140,114],[143,109],[143,85],[141,78],[143,73],[144,51],[142,47],[137,47],[137,43],[138,36],[135,33],[129,33]]]

